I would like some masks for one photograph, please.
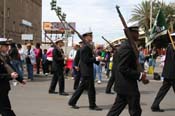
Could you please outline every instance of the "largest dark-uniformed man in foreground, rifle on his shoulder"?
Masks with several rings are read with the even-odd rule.
[[[129,27],[134,41],[139,37],[138,26]],[[130,116],[141,116],[140,92],[137,81],[146,78],[146,73],[137,70],[133,49],[126,40],[123,42],[115,56],[115,91],[117,97],[107,116],[119,116],[125,106],[129,106]]]

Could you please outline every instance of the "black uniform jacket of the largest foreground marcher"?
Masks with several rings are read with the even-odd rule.
[[[114,55],[113,74],[115,76],[114,90],[118,94],[132,95],[138,93],[136,56],[126,40]]]

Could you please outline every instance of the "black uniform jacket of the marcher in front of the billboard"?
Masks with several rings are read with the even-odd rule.
[[[64,56],[62,50],[56,47],[53,49],[52,69],[54,72],[58,71],[58,73],[64,70]]]

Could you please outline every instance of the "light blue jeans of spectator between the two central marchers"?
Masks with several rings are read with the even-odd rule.
[[[98,80],[102,80],[102,66],[101,64],[94,64],[94,79],[96,79],[96,75],[98,75]]]

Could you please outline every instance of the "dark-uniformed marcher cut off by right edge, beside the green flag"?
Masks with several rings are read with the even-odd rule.
[[[164,77],[163,84],[151,106],[153,112],[164,112],[164,110],[159,107],[160,102],[163,100],[171,86],[175,92],[175,50],[173,49],[172,44],[169,44],[167,48],[162,77]]]

